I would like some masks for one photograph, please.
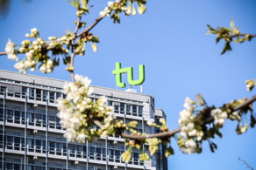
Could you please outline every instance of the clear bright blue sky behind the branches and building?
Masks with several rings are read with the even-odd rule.
[[[107,1],[91,3],[95,4],[91,14],[83,17],[88,24]],[[242,32],[255,34],[256,1],[158,0],[148,1],[146,6],[145,15],[122,15],[121,24],[112,24],[110,18],[104,18],[92,31],[100,38],[98,52],[94,53],[88,45],[85,56],[75,60],[75,72],[91,78],[92,85],[116,88],[111,73],[116,62],[124,67],[132,66],[135,78],[138,66],[146,65],[144,93],[155,92],[156,107],[166,112],[170,129],[178,127],[179,112],[187,96],[195,99],[200,92],[209,105],[220,106],[231,99],[250,98],[255,94],[255,90],[246,92],[245,80],[255,78],[256,39],[232,44],[233,51],[221,56],[224,44],[216,45],[215,37],[206,35],[206,24],[230,26],[234,17]],[[0,51],[4,51],[8,38],[20,44],[25,33],[34,27],[44,38],[60,37],[68,29],[75,29],[75,8],[67,1],[17,0],[11,1],[10,7],[6,16],[0,16]],[[13,61],[0,58],[0,69],[15,71]],[[63,68],[61,65],[52,74],[39,71],[33,74],[71,80]],[[186,155],[172,140],[175,154],[168,158],[168,168],[246,169],[238,157],[256,168],[256,129],[249,128],[247,133],[238,136],[236,126],[237,123],[231,121],[224,125],[223,139],[214,139],[218,146],[216,153],[210,153],[205,142],[203,153]]]

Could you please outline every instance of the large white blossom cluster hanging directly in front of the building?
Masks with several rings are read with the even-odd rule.
[[[110,125],[113,120],[112,107],[106,105],[106,98],[97,99],[94,103],[89,95],[89,78],[75,75],[76,83],[66,83],[63,86],[66,99],[58,99],[58,117],[60,124],[66,128],[64,136],[68,141],[84,143],[103,135],[105,129],[96,130],[94,120],[103,120],[104,125]],[[108,125],[107,125],[108,124]]]

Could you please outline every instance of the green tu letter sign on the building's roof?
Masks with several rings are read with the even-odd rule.
[[[145,81],[145,65],[139,65],[139,79],[133,80],[133,68],[121,68],[121,63],[116,63],[116,70],[113,74],[116,75],[117,86],[124,88],[125,83],[122,83],[122,74],[127,72],[128,83],[130,85],[141,85]]]

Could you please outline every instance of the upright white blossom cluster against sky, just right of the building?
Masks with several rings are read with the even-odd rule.
[[[196,116],[193,112],[196,108],[196,103],[189,99],[185,99],[185,109],[180,112],[181,118],[179,124],[181,126],[181,132],[178,140],[178,145],[181,147],[182,153],[196,153],[200,149],[200,146],[196,144],[196,141],[201,141],[203,138],[203,131],[201,126],[196,125]]]

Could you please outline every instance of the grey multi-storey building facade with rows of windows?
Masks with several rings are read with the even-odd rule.
[[[63,138],[65,130],[57,117],[56,99],[65,95],[65,82],[53,78],[24,75],[0,70],[0,165],[1,169],[60,170],[60,169],[149,169],[167,170],[164,146],[145,162],[139,161],[139,151],[134,150],[132,160],[121,160],[126,146],[120,136],[98,139],[93,143],[77,144]],[[154,107],[154,99],[145,94],[124,92],[91,85],[90,96],[101,96],[114,107],[116,119],[128,123],[138,121],[138,131],[156,133],[157,129],[146,126],[146,121],[159,123],[166,119],[161,109]],[[148,146],[144,146],[146,152]]]

